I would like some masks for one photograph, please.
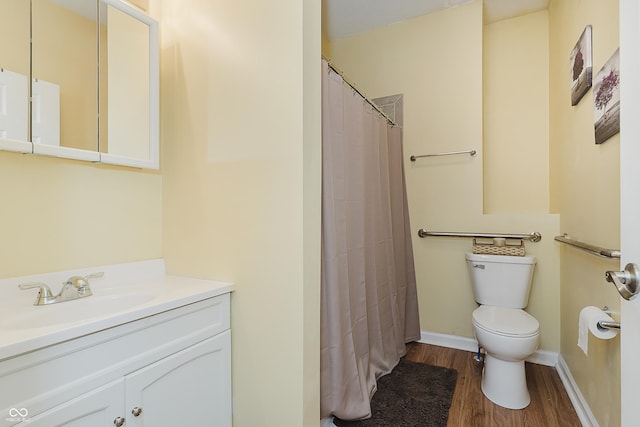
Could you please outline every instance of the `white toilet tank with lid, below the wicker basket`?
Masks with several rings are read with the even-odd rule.
[[[473,295],[479,304],[525,308],[533,278],[534,256],[467,253]]]

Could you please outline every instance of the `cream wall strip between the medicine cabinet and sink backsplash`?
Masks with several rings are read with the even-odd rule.
[[[162,178],[0,152],[0,277],[159,258]]]

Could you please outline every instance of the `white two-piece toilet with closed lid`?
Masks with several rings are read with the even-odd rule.
[[[480,304],[471,317],[478,345],[486,353],[482,393],[505,408],[525,408],[531,398],[524,360],[540,342],[540,324],[523,310],[529,302],[536,258],[473,253],[465,258]]]

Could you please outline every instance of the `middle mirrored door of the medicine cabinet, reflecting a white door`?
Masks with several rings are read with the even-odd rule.
[[[76,0],[31,2],[31,141],[34,153],[87,154],[90,157],[87,160],[97,161],[97,3]]]

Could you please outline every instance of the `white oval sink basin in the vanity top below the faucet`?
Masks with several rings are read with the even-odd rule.
[[[151,292],[106,293],[49,305],[23,307],[20,313],[0,320],[0,329],[32,329],[86,322],[89,319],[130,310],[155,298]]]

